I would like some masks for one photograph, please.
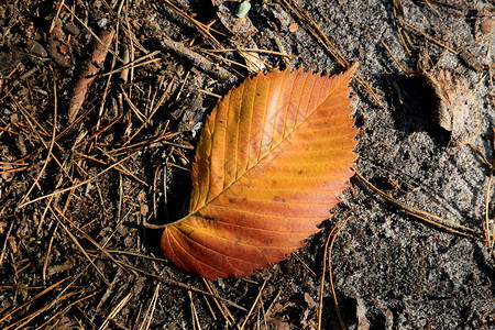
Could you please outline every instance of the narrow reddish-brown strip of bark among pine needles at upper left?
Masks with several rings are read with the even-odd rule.
[[[86,99],[86,94],[88,92],[89,86],[92,80],[95,80],[96,74],[100,72],[103,65],[105,58],[107,58],[108,50],[116,34],[116,30],[105,31],[99,41],[95,42],[95,46],[91,56],[85,64],[81,77],[74,88],[74,96],[70,99],[69,105],[69,123],[73,123],[79,112],[82,103]]]

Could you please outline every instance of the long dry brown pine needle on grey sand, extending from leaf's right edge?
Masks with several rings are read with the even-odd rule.
[[[376,194],[378,194],[383,199],[385,199],[386,201],[388,201],[389,204],[392,204],[393,206],[406,211],[408,215],[416,217],[418,219],[421,219],[430,224],[433,224],[436,227],[440,227],[444,230],[448,230],[450,232],[463,235],[463,237],[468,237],[468,238],[472,238],[472,239],[480,239],[481,233],[474,229],[454,223],[452,221],[449,221],[447,219],[442,219],[440,217],[437,217],[435,215],[428,213],[426,211],[422,211],[420,209],[414,208],[411,206],[408,206],[405,202],[402,202],[395,198],[392,198],[391,196],[388,196],[387,194],[385,194],[384,191],[380,190],[378,188],[376,188],[372,183],[370,183],[369,180],[366,180],[364,178],[364,176],[361,175],[361,173],[359,173],[356,169],[354,169],[355,175],[373,191],[375,191]],[[459,230],[455,230],[453,228],[457,228]],[[460,231],[463,230],[464,232]],[[470,232],[470,233],[468,233]]]

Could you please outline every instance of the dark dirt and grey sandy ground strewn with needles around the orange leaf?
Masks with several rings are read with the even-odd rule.
[[[1,328],[316,329],[342,219],[342,320],[326,273],[322,329],[495,327],[493,1],[251,1],[241,19],[235,1],[59,2],[0,6]],[[297,13],[376,95],[354,81],[356,170],[474,238],[354,177],[321,232],[256,275],[205,282],[161,258],[142,223],[184,215],[218,96],[260,67],[344,69]]]

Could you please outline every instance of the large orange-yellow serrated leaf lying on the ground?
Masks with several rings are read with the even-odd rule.
[[[165,256],[211,279],[251,275],[318,232],[356,158],[355,67],[275,70],[232,88],[202,129],[189,215],[165,228]]]

